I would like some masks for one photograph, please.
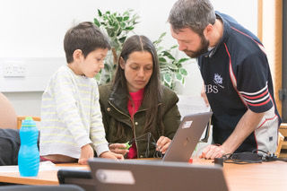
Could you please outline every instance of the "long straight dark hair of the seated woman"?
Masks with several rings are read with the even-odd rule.
[[[126,85],[125,71],[120,67],[120,59],[126,60],[133,52],[149,52],[152,54],[152,76],[150,82],[148,82],[144,89],[142,106],[146,110],[144,133],[151,132],[155,138],[159,138],[163,135],[162,124],[162,112],[161,106],[158,104],[161,100],[162,89],[160,80],[160,66],[156,49],[154,48],[152,41],[145,36],[134,35],[126,39],[123,45],[121,54],[117,62],[117,72],[113,81],[113,88],[121,88],[126,94],[127,100],[131,100],[129,91]],[[127,104],[127,102],[126,102]],[[117,126],[117,137],[125,137],[123,125]]]

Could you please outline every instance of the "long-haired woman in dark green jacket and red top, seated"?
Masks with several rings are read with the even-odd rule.
[[[178,96],[161,85],[158,56],[150,39],[138,35],[126,39],[113,82],[99,91],[111,152],[134,159],[167,151],[180,123]],[[132,147],[127,150],[129,141]]]

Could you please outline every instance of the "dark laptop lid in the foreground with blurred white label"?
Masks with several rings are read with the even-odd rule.
[[[227,191],[222,168],[185,162],[89,161],[97,191]]]

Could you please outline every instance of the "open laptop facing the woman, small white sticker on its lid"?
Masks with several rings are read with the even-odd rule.
[[[162,161],[188,162],[212,115],[203,112],[183,117]]]

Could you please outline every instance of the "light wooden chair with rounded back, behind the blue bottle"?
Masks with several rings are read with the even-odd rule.
[[[0,128],[20,129],[26,116],[17,116],[12,103],[0,92]],[[40,121],[40,117],[32,117]]]

